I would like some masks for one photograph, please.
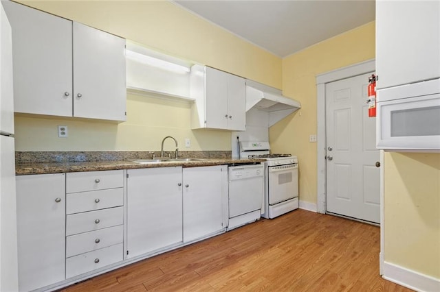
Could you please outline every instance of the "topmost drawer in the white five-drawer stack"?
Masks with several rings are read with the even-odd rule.
[[[66,193],[122,188],[124,171],[84,171],[66,173]]]

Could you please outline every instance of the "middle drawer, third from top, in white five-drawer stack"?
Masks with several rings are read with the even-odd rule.
[[[77,213],[66,216],[66,235],[122,225],[123,207]]]

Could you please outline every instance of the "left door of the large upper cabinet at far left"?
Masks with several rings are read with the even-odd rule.
[[[72,21],[2,3],[12,27],[14,111],[72,117]]]

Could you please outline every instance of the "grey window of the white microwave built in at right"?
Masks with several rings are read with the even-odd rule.
[[[391,111],[391,136],[439,136],[440,106]]]

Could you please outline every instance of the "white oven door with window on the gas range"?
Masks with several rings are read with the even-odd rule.
[[[298,197],[298,165],[268,167],[267,184],[270,205]]]

